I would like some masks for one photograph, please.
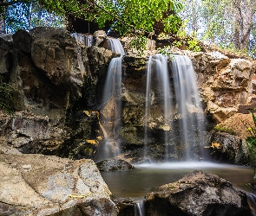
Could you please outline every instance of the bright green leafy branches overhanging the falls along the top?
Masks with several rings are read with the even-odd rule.
[[[110,22],[121,35],[135,29],[154,31],[154,24],[161,22],[163,30],[175,33],[181,25],[178,12],[182,10],[182,0],[36,0],[0,1],[0,10],[19,3],[36,2],[44,10],[59,16],[75,16],[90,22],[97,22],[102,28]]]

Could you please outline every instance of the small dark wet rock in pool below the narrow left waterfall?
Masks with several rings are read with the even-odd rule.
[[[97,162],[96,165],[100,171],[121,171],[135,168],[130,163],[121,159],[108,159],[102,162]]]

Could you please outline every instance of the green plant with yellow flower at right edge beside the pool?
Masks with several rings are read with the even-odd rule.
[[[249,127],[250,137],[246,138],[246,144],[249,150],[250,162],[254,168],[254,177],[256,178],[256,118],[252,112],[254,127]]]

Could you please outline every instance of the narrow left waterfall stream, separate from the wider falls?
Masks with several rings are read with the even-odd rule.
[[[121,154],[118,134],[121,126],[121,77],[122,57],[125,54],[118,39],[108,39],[108,49],[120,57],[113,58],[108,66],[107,79],[103,92],[103,124],[107,132],[102,149],[102,159],[115,157]]]

